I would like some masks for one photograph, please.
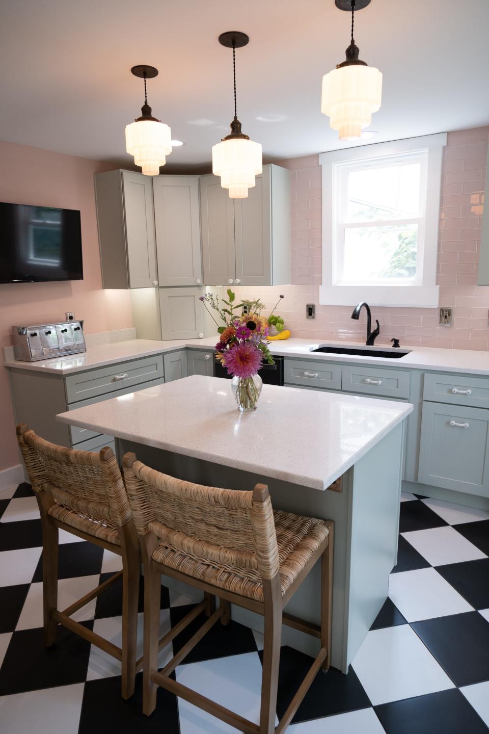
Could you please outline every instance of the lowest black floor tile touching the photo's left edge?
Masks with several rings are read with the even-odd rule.
[[[92,629],[93,622],[82,622]],[[44,646],[43,629],[14,632],[0,669],[0,696],[81,683],[87,677],[90,644],[58,627],[56,644]]]

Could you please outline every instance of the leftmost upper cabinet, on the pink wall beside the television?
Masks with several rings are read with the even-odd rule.
[[[104,288],[157,285],[152,181],[142,173],[95,175]]]

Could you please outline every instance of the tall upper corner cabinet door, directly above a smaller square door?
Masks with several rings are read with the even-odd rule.
[[[156,254],[160,286],[200,286],[199,178],[155,176]]]

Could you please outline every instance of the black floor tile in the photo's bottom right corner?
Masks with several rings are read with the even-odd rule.
[[[457,688],[375,706],[386,734],[487,734],[488,727]]]

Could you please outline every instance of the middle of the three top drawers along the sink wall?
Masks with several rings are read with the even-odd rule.
[[[342,390],[388,398],[409,397],[409,372],[395,369],[343,365]]]

